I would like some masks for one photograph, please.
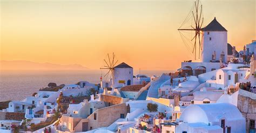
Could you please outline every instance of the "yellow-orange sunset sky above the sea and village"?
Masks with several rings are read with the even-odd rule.
[[[178,69],[193,58],[177,31],[193,2],[1,1],[1,60],[98,69],[114,52],[134,69]],[[256,40],[255,0],[201,3],[204,25],[216,17],[237,50]]]

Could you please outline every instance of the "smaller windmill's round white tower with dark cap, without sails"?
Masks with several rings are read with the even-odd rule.
[[[123,87],[125,85],[133,85],[133,68],[126,63],[121,63],[114,67],[114,88]]]

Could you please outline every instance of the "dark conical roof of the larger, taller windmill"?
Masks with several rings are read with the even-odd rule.
[[[203,31],[227,31],[214,17],[210,24],[203,28]]]

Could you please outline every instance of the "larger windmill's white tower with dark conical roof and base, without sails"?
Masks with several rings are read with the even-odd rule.
[[[182,62],[181,69],[187,73],[200,75],[201,73],[217,70],[227,62],[227,30],[214,18],[203,28],[201,60],[198,62]]]

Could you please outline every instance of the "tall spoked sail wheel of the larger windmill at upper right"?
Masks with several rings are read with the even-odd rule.
[[[191,25],[189,25],[188,27],[184,27],[190,20],[191,20]],[[185,18],[185,20],[183,21],[183,23],[181,24],[181,26],[178,29],[181,39],[183,39],[183,42],[185,43],[187,50],[190,52],[192,51],[192,54],[194,54],[195,60],[197,60],[197,55],[198,55],[198,58],[200,58],[200,50],[202,50],[200,34],[203,34],[203,33],[201,33],[201,31],[203,30],[202,29],[203,22],[204,22],[203,8],[201,5],[201,2],[199,5],[199,0],[197,0],[194,2],[194,5],[192,6],[190,13],[188,13],[187,17]],[[192,39],[188,39],[182,33],[183,31],[184,32],[191,31]],[[191,46],[186,42],[185,39],[187,39],[189,42],[191,42]],[[197,41],[197,39],[198,39],[198,41]],[[197,47],[197,45],[198,45],[198,47]],[[197,49],[198,49],[198,53],[197,53]]]

